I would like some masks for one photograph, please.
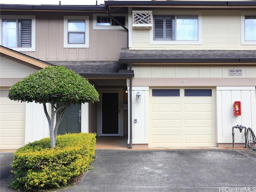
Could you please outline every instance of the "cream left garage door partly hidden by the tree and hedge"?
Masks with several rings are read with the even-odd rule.
[[[0,148],[24,146],[25,103],[7,98],[8,90],[0,90]]]

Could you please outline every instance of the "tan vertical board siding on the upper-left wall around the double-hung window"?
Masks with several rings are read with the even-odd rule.
[[[125,30],[93,30],[90,14],[89,48],[63,48],[63,14],[36,15],[36,52],[22,52],[42,60],[55,59],[118,59],[126,47]]]

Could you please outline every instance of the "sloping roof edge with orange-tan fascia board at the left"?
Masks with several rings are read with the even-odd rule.
[[[48,67],[49,65],[52,65],[48,62],[42,61],[40,59],[36,59],[34,57],[30,57],[28,55],[25,55],[23,53],[20,53],[18,51],[14,51],[13,49],[6,48],[4,46],[0,46],[0,53],[1,55],[7,55],[9,57],[12,57],[14,59],[18,59],[20,61],[24,61],[28,64],[34,65],[36,67],[44,68]]]

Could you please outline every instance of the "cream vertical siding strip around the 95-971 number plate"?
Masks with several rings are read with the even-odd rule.
[[[229,76],[228,69],[242,69],[241,76]],[[256,67],[132,67],[136,78],[255,78]]]

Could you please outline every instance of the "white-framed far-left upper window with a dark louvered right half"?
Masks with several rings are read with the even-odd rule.
[[[35,51],[35,16],[1,16],[1,45],[16,51]]]

